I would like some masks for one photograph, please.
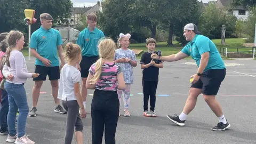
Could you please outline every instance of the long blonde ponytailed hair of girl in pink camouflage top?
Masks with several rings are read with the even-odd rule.
[[[116,44],[113,39],[108,37],[101,39],[99,41],[98,47],[100,58],[95,63],[94,75],[90,80],[91,84],[95,84],[99,80],[102,71],[103,60],[114,60],[115,57]]]

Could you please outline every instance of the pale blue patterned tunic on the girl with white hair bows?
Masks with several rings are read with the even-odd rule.
[[[128,58],[133,61],[136,61],[136,55],[130,49],[127,49],[127,50],[123,50],[121,48],[117,49],[115,52],[115,60],[121,59],[121,58]],[[126,84],[133,84],[133,76],[132,76],[133,71],[132,71],[131,63],[130,62],[121,62],[121,63],[118,63],[118,65],[120,65],[123,70],[124,82]]]

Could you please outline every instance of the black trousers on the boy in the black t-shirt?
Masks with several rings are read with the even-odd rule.
[[[148,99],[150,98],[150,110],[155,111],[157,81],[142,81],[143,86],[143,109],[148,110]]]

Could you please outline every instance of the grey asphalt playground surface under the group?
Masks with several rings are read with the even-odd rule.
[[[34,58],[27,60],[29,72],[34,71]],[[199,95],[195,109],[189,114],[186,125],[174,125],[166,114],[179,115],[186,102],[190,87],[189,77],[196,73],[193,60],[164,62],[159,71],[157,87],[156,114],[158,117],[144,117],[142,92],[142,70],[133,69],[134,84],[131,87],[130,117],[123,113],[118,119],[116,143],[256,143],[256,65],[255,60],[225,60],[227,75],[223,81],[217,100],[223,113],[231,124],[229,130],[216,132],[211,127],[217,125],[218,118]],[[31,90],[33,79],[25,84],[29,109],[32,106]],[[93,94],[89,90],[88,94]],[[84,143],[91,143],[91,101],[87,96],[87,118],[83,119]],[[123,102],[121,104],[123,112]],[[54,101],[51,95],[50,81],[45,81],[37,106],[37,117],[27,118],[26,133],[29,138],[41,144],[63,144],[66,129],[66,115],[54,113]],[[103,136],[104,137],[104,136]],[[0,143],[5,144],[6,136],[0,135]],[[75,138],[73,143],[76,143]],[[104,138],[103,138],[103,142]]]

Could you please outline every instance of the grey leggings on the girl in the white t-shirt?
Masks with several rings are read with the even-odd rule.
[[[76,100],[62,101],[62,105],[67,111],[65,144],[71,144],[74,134],[74,127],[76,131],[83,132],[84,125],[79,116],[79,105]]]

